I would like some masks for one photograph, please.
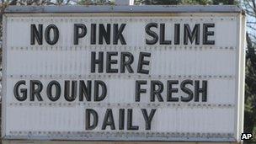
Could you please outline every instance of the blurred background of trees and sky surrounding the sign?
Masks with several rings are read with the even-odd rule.
[[[0,45],[2,47],[3,11],[10,5],[116,5],[124,1],[127,0],[1,0]],[[252,142],[256,142],[256,0],[134,0],[133,3],[134,5],[237,5],[244,9],[247,14],[244,132],[253,133]],[[1,80],[2,48],[0,56]],[[0,85],[0,90],[1,88],[2,85]]]

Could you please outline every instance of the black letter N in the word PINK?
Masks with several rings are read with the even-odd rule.
[[[104,24],[99,24],[99,44],[103,44],[103,38],[106,44],[110,44],[110,24],[107,24],[107,30],[104,28]]]

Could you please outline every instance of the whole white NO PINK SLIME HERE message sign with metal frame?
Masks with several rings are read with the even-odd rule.
[[[240,141],[237,7],[33,8],[3,18],[3,138]]]

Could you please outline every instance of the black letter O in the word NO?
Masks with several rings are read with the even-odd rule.
[[[50,38],[50,31],[53,30],[53,40]],[[50,24],[45,29],[45,41],[49,45],[55,45],[56,42],[59,40],[59,29],[56,27],[55,24]]]

